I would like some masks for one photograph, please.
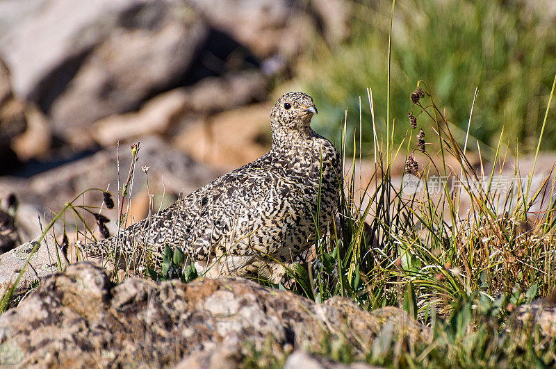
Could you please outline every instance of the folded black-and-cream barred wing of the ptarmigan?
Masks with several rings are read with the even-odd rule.
[[[223,184],[197,202],[202,206],[188,220],[184,248],[194,252],[195,259],[211,254],[256,254],[254,245],[262,247],[260,252],[272,252],[265,245],[271,240],[279,244],[284,229],[290,226],[285,219],[301,210],[302,204],[293,202],[290,195],[295,183],[265,170],[232,173],[224,177]]]

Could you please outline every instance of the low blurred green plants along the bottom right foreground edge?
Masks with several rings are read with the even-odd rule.
[[[556,338],[546,337],[538,326],[512,326],[512,309],[530,302],[533,292],[517,288],[491,300],[472,293],[455,304],[448,318],[434,316],[426,339],[394,334],[383,327],[369,342],[354,347],[341,335],[322,338],[320,348],[309,354],[340,363],[366,362],[389,368],[527,368],[556,365]],[[510,308],[510,309],[507,309]],[[348,328],[346,328],[348,329]],[[282,345],[263,347],[246,343],[243,365],[248,368],[280,367],[286,360]],[[363,349],[363,350],[361,350]]]

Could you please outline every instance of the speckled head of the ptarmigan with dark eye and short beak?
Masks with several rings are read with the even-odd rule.
[[[308,133],[311,117],[317,113],[313,99],[303,92],[288,92],[270,111],[273,133]]]

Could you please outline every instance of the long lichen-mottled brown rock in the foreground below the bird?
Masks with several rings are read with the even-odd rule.
[[[0,316],[0,365],[237,367],[269,340],[284,355],[341,339],[357,356],[387,326],[410,340],[430,334],[393,307],[315,304],[240,278],[113,286],[103,269],[79,263]]]

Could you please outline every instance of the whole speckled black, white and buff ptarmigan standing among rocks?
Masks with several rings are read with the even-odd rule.
[[[131,225],[117,242],[113,236],[85,252],[144,263],[146,254],[161,259],[169,245],[206,277],[259,274],[278,281],[281,265],[325,235],[339,201],[340,154],[311,129],[316,113],[309,95],[280,97],[270,112],[267,154]]]

